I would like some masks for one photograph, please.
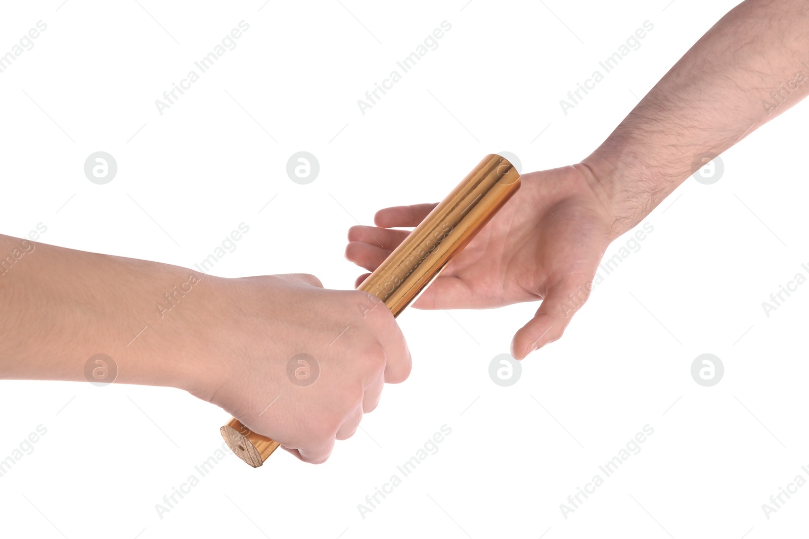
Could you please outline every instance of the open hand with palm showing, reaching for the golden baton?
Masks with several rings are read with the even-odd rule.
[[[522,176],[522,186],[492,221],[413,303],[417,309],[488,309],[542,300],[517,331],[511,354],[523,359],[559,339],[590,294],[612,241],[614,218],[587,166]],[[385,208],[375,224],[349,229],[345,256],[373,271],[436,204]],[[360,276],[359,284],[366,275]]]

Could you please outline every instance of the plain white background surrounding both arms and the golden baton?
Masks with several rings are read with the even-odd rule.
[[[735,3],[341,2],[4,3],[0,53],[48,28],[0,74],[0,231],[42,222],[42,242],[190,267],[244,221],[214,274],[350,288],[349,226],[442,199],[499,150],[523,171],[578,162]],[[243,19],[237,47],[159,115],[155,99]],[[363,116],[357,100],[443,20],[438,48]],[[565,116],[559,100],[646,20],[642,47]],[[769,520],[761,504],[809,479],[809,285],[769,318],[761,302],[807,275],[807,119],[803,103],[723,154],[717,183],[663,201],[642,249],[516,385],[494,385],[489,361],[537,305],[409,310],[411,377],[327,463],[229,455],[162,519],[155,503],[214,454],[227,414],[180,390],[3,381],[0,459],[48,432],[0,478],[2,535],[795,537],[809,486]],[[106,185],[83,173],[99,150],[118,164]],[[299,150],[320,161],[308,185],[286,176]],[[725,365],[713,387],[690,374],[705,352]],[[358,503],[444,424],[438,453],[362,519]],[[560,503],[646,424],[642,451],[565,520]]]

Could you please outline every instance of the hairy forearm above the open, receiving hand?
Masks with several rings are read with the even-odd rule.
[[[615,208],[612,237],[637,225],[699,162],[803,99],[807,62],[805,0],[748,0],[716,23],[582,161]]]

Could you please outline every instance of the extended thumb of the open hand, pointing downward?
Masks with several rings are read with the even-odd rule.
[[[559,339],[573,315],[590,297],[591,279],[571,276],[553,285],[542,305],[511,341],[511,355],[522,360],[531,352]]]

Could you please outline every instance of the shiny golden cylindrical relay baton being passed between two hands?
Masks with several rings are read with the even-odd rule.
[[[517,189],[515,167],[497,154],[487,155],[357,289],[379,297],[398,316]],[[254,468],[279,445],[235,418],[220,432],[233,453]]]

